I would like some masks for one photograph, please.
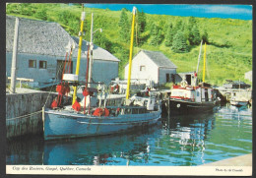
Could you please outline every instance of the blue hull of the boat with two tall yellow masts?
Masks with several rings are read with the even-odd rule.
[[[98,117],[57,110],[45,110],[44,140],[92,137],[125,132],[136,127],[156,124],[160,111]]]

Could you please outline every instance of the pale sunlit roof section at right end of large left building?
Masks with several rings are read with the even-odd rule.
[[[76,41],[77,44],[79,43],[78,37],[72,36],[72,38]],[[86,56],[87,56],[87,52],[88,52],[88,45],[87,45],[88,43],[89,42],[86,40],[83,40],[83,42],[82,42],[82,51],[85,51],[84,55],[86,55]],[[98,60],[104,60],[104,61],[116,61],[116,62],[120,61],[114,55],[112,55],[110,52],[97,46],[96,44],[94,44],[93,58],[98,59]]]

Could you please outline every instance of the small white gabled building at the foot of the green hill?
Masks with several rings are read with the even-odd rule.
[[[146,84],[152,81],[155,86],[172,82],[177,67],[161,52],[141,50],[132,60],[131,79]],[[128,79],[129,64],[125,66],[125,79]]]

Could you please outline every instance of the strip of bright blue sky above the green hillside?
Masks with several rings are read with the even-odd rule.
[[[193,16],[198,18],[224,18],[252,20],[251,5],[194,5],[194,4],[85,4],[88,8],[110,9],[119,11],[126,8],[132,11],[133,7],[147,14]]]

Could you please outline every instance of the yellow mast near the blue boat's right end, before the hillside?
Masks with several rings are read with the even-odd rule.
[[[128,81],[127,81],[127,89],[126,89],[126,99],[129,99],[129,95],[130,95],[135,15],[136,15],[136,7],[133,7],[133,21],[132,21],[132,32],[131,32],[131,45],[130,45],[129,71],[128,71]]]

